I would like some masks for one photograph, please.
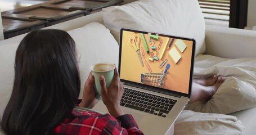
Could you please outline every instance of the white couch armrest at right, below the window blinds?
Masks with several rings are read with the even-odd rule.
[[[207,55],[236,59],[256,57],[256,31],[206,25]]]

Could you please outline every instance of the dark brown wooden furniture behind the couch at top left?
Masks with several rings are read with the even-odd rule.
[[[114,6],[123,0],[53,0],[2,12],[5,39]]]

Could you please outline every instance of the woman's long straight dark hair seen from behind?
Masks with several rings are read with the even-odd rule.
[[[50,134],[71,115],[80,91],[75,42],[66,31],[35,30],[21,40],[15,80],[1,128],[6,134]]]

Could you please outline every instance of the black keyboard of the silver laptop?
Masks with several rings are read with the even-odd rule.
[[[146,113],[166,117],[177,100],[124,88],[120,105]]]

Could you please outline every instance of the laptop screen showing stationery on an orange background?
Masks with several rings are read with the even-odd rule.
[[[120,79],[190,95],[194,51],[194,39],[122,29]]]

